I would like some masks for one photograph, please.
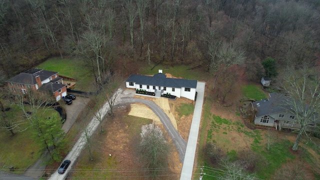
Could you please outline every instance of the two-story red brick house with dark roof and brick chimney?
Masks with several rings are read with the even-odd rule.
[[[6,80],[8,87],[15,93],[25,94],[28,89],[42,92],[52,92],[56,101],[66,95],[66,85],[58,72],[29,69]]]

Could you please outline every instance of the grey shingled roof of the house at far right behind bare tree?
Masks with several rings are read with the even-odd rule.
[[[255,116],[259,117],[290,109],[290,105],[286,104],[288,97],[276,92],[269,93],[269,96],[268,99],[252,102],[253,107],[257,109]]]

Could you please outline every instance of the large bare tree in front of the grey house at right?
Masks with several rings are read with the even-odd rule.
[[[318,123],[319,84],[320,77],[307,66],[294,74],[287,74],[282,82],[281,88],[288,97],[285,104],[291,107],[288,111],[294,114],[293,123],[299,125],[292,150],[297,150],[301,137],[303,134],[307,135],[308,128],[312,129]]]

